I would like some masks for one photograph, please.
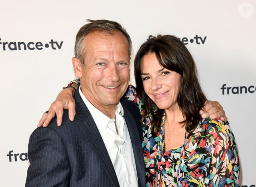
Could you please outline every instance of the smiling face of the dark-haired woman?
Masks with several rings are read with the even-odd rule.
[[[163,68],[155,55],[144,55],[140,62],[141,78],[146,94],[160,109],[178,109],[177,97],[181,75]]]

